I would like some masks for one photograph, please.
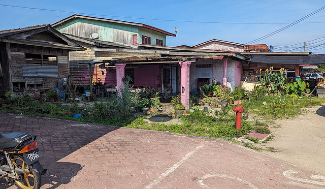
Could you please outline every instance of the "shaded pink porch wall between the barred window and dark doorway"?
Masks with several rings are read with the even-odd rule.
[[[158,90],[157,85],[161,86],[161,66],[160,65],[145,65],[143,68],[134,69],[134,85],[144,86],[150,85]]]

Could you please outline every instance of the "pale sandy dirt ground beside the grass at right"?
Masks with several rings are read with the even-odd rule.
[[[325,175],[325,103],[269,127],[274,140],[257,144],[263,153]]]

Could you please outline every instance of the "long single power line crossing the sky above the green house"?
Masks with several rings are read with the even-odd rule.
[[[62,13],[72,13],[72,14],[82,14],[82,15],[92,15],[92,16],[116,17],[116,18],[131,18],[131,19],[169,21],[169,22],[217,23],[217,24],[288,24],[287,22],[283,22],[283,23],[258,23],[258,22],[254,23],[253,22],[253,23],[249,23],[249,22],[210,22],[210,21],[192,21],[192,20],[167,20],[167,19],[154,19],[154,18],[139,18],[139,17],[127,17],[127,16],[113,16],[113,15],[105,15],[105,14],[91,14],[91,13],[72,12],[72,11],[61,11],[61,10],[54,10],[54,9],[42,9],[42,8],[23,7],[23,6],[14,6],[14,5],[4,5],[4,4],[0,4],[0,6],[14,7],[14,8],[24,8],[24,9],[34,9],[34,10],[42,10],[42,11],[62,12]],[[324,22],[300,22],[300,23],[301,24],[325,23],[325,21]]]

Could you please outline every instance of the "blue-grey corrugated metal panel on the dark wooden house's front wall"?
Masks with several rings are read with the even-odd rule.
[[[58,77],[57,66],[22,66],[22,77]]]

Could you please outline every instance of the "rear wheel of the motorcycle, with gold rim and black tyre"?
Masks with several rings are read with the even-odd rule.
[[[14,155],[11,159],[14,167],[23,169],[27,172],[21,181],[15,180],[15,185],[20,189],[39,189],[41,187],[40,173],[33,171],[26,164],[25,160],[18,155]]]

